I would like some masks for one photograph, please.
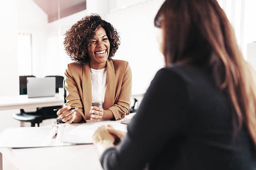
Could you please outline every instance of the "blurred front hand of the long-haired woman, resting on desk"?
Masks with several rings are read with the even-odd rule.
[[[92,140],[100,154],[102,154],[104,150],[114,146],[115,138],[108,132],[108,127],[106,125],[102,125],[94,132]]]

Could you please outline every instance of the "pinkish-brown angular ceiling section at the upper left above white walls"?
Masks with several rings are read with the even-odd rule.
[[[58,0],[33,0],[46,14],[48,22],[58,20]],[[60,18],[86,9],[86,0],[59,0]]]

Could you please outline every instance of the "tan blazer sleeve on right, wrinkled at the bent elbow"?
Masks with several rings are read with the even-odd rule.
[[[118,96],[117,102],[108,108],[114,115],[115,120],[120,120],[128,115],[130,109],[130,100],[132,94],[132,70],[129,63],[126,64],[126,69],[124,71],[124,76],[122,79],[122,85],[120,89],[120,94]]]

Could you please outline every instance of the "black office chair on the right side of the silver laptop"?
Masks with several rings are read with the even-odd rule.
[[[63,87],[63,80],[64,77],[63,76],[45,76],[45,77],[55,77],[55,84],[56,84],[56,88],[55,91],[56,93],[59,92],[59,88]],[[57,114],[56,111],[54,111],[54,109],[60,108],[62,106],[50,106],[50,107],[42,107],[42,108],[38,108],[38,111],[44,115],[44,119],[51,119],[51,118],[57,118]]]

